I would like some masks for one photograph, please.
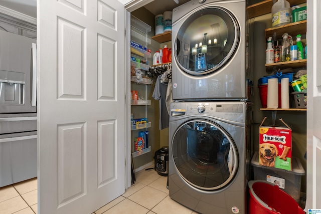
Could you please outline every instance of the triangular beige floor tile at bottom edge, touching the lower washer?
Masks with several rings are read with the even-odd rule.
[[[179,204],[175,200],[173,200],[170,196],[167,196],[164,200],[158,203],[155,207],[151,209],[151,211],[157,214],[191,214],[193,210]]]

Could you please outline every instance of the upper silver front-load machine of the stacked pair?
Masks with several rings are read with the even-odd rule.
[[[173,10],[173,100],[249,100],[246,1],[192,0]]]

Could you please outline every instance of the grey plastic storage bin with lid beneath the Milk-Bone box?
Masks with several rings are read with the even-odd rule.
[[[251,165],[254,169],[254,180],[278,182],[279,186],[281,186],[281,189],[289,194],[297,203],[299,203],[301,178],[302,175],[305,174],[305,171],[298,158],[292,157],[292,171],[287,171],[284,169],[260,165],[259,153],[255,152],[251,160]]]

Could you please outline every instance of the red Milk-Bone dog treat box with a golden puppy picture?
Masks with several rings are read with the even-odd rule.
[[[285,127],[263,125],[259,127],[259,164],[279,169],[292,170],[292,130],[282,120]]]

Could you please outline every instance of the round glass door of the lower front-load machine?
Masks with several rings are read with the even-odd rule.
[[[233,180],[238,153],[233,140],[217,124],[191,120],[173,137],[172,155],[180,176],[202,190],[215,190]]]

